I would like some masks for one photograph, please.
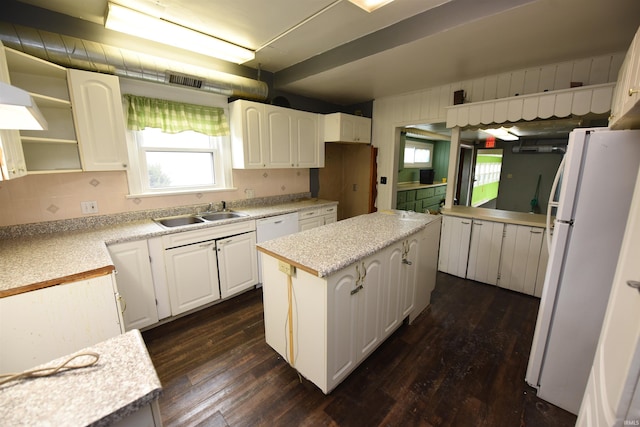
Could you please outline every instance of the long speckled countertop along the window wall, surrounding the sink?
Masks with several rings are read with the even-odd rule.
[[[146,219],[89,230],[0,239],[0,298],[110,272],[114,269],[107,250],[107,245],[110,244],[303,212],[335,204],[335,201],[308,199],[234,209],[249,216],[213,223],[165,228]]]

